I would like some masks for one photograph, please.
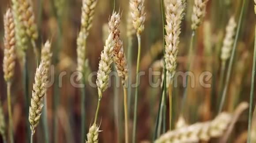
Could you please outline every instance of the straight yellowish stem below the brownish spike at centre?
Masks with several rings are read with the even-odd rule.
[[[124,89],[124,122],[125,122],[125,143],[129,143],[128,136],[128,109],[127,109],[127,89],[123,86]]]

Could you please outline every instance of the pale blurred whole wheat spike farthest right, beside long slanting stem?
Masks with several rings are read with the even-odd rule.
[[[226,36],[223,41],[223,46],[221,50],[221,60],[226,61],[230,58],[233,42],[234,42],[234,36],[235,36],[235,29],[236,29],[236,21],[234,17],[231,17],[229,20],[229,23],[226,27]]]

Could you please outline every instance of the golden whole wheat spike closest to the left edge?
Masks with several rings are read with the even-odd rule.
[[[9,8],[4,15],[4,60],[3,70],[4,79],[10,82],[13,79],[15,70],[15,24],[11,9]]]

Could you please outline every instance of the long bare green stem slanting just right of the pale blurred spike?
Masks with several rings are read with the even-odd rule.
[[[242,6],[240,17],[239,17],[239,22],[238,22],[238,26],[237,26],[237,33],[236,33],[236,37],[235,37],[234,44],[233,44],[232,54],[231,54],[231,57],[230,57],[228,72],[227,72],[226,81],[225,81],[225,85],[224,85],[224,89],[223,89],[223,93],[222,93],[222,97],[221,97],[221,101],[220,101],[220,105],[219,105],[219,109],[218,109],[218,114],[222,111],[223,105],[224,105],[225,100],[226,100],[226,93],[227,93],[227,89],[228,89],[228,86],[229,86],[231,70],[232,70],[232,66],[233,66],[235,52],[236,52],[236,49],[237,49],[237,41],[238,41],[238,37],[239,37],[239,34],[240,34],[241,23],[242,23],[242,19],[243,19],[243,15],[244,15],[245,1],[246,0],[243,1],[243,6]]]

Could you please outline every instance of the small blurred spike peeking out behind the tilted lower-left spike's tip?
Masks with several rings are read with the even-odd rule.
[[[51,43],[49,40],[47,40],[41,49],[41,61],[44,61],[45,64],[45,75],[47,76],[47,79],[49,79],[52,56],[53,53],[51,52]]]

